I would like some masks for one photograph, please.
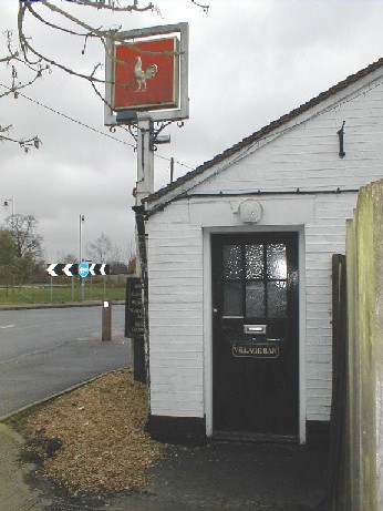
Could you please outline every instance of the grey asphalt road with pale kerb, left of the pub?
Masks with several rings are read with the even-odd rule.
[[[124,315],[112,306],[112,340],[102,341],[101,306],[0,310],[0,418],[128,366]]]

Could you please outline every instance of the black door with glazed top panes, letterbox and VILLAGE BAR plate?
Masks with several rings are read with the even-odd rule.
[[[215,435],[298,439],[298,235],[213,235]]]

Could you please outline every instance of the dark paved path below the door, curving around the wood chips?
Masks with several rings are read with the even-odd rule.
[[[0,423],[1,511],[328,511],[327,449],[259,443],[174,446],[151,469],[146,492],[90,501],[85,508],[82,499],[63,500],[23,482],[28,467],[18,461],[22,442]]]

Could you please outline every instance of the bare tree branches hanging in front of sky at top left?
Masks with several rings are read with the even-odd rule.
[[[69,4],[76,6],[80,9],[96,9],[107,10],[113,12],[145,12],[155,11],[161,13],[159,9],[149,0],[66,0]],[[161,0],[158,0],[161,1]],[[193,4],[203,9],[207,12],[209,6],[198,3],[196,0],[188,0]],[[72,9],[73,11],[73,9]],[[72,12],[71,11],[71,12]],[[87,81],[99,98],[105,102],[103,94],[97,90],[97,86],[105,83],[105,79],[100,76],[99,71],[102,68],[102,63],[90,64],[90,70],[76,70],[74,67],[68,65],[60,61],[59,57],[50,57],[46,48],[38,50],[33,42],[33,39],[27,34],[25,21],[28,17],[31,17],[34,21],[41,23],[46,29],[61,32],[72,38],[80,38],[83,40],[82,54],[85,53],[87,42],[90,40],[99,41],[104,52],[106,51],[106,41],[112,40],[121,44],[126,44],[122,35],[122,25],[104,28],[102,25],[95,25],[84,20],[82,16],[75,16],[69,10],[58,7],[53,3],[53,0],[19,0],[18,7],[18,42],[19,48],[14,49],[12,45],[12,32],[6,32],[7,39],[7,53],[0,55],[0,65],[10,67],[11,84],[9,86],[0,83],[4,89],[4,92],[0,92],[0,99],[9,94],[18,98],[18,91],[32,85],[43,72],[51,72],[53,68],[60,69],[61,71],[72,76],[81,78]],[[59,21],[53,21],[59,19]],[[130,41],[132,43],[132,41]],[[143,53],[155,53],[139,50]],[[20,80],[17,65],[23,65],[29,71],[30,76]],[[0,141],[14,142],[21,145],[27,152],[29,147],[39,147],[41,141],[38,136],[30,139],[17,140],[9,135],[11,125],[2,127],[0,125]],[[6,134],[7,133],[7,134]]]

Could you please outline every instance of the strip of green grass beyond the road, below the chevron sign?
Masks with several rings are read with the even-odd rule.
[[[82,283],[77,279],[65,284],[31,284],[8,289],[0,287],[0,305],[65,304],[82,302],[82,295],[84,302],[124,300],[125,279],[115,283],[106,279],[93,282],[86,278],[84,292],[82,292]]]

